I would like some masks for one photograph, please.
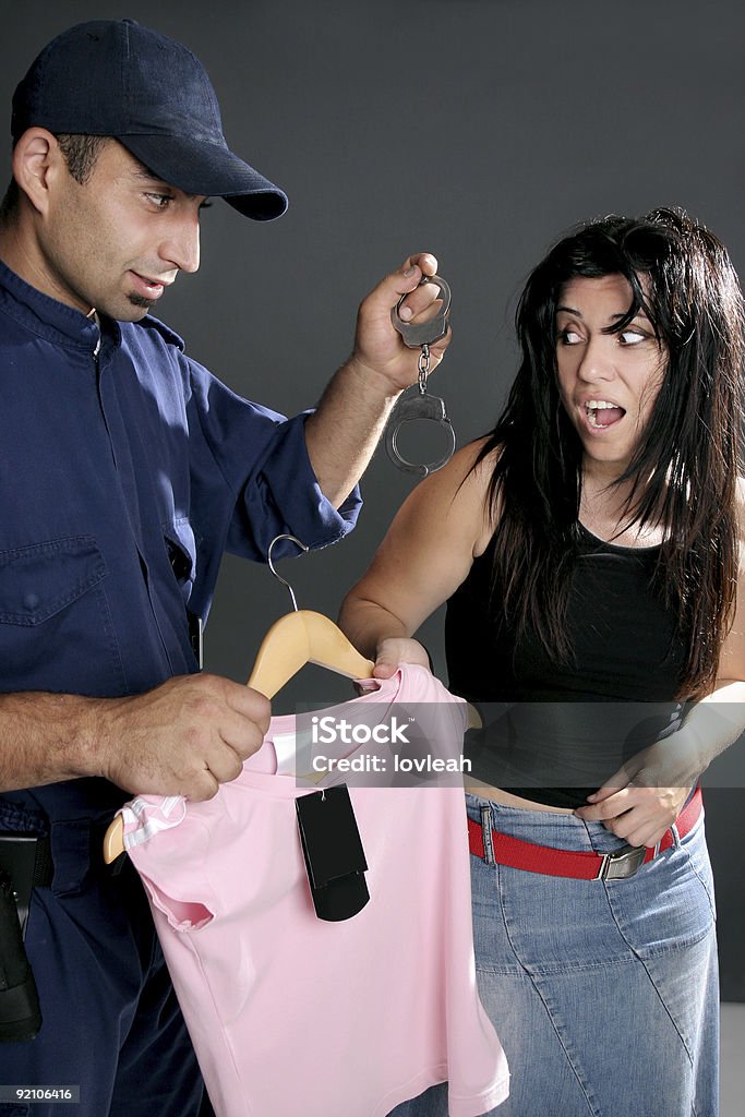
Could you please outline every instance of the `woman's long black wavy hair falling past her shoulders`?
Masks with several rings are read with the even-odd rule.
[[[516,313],[522,363],[478,461],[496,462],[493,605],[517,631],[532,628],[557,660],[576,555],[582,443],[562,404],[556,307],[575,277],[622,275],[668,354],[662,385],[632,460],[624,524],[663,525],[655,584],[677,611],[687,646],[680,697],[716,679],[734,611],[742,472],[743,295],[726,249],[685,212],[606,217],[560,240],[531,274]],[[643,280],[643,286],[642,286]]]

